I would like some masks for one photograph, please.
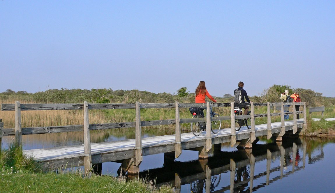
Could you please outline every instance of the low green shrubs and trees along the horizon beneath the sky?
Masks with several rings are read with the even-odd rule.
[[[292,89],[289,85],[273,85],[268,89],[264,89],[260,96],[249,96],[253,102],[280,102],[280,94],[285,90],[289,94],[299,93],[303,102],[307,105],[316,106],[332,106],[335,105],[335,98],[324,97],[322,93],[315,92],[311,89],[296,88]],[[0,93],[0,99],[15,99],[21,101],[32,101],[34,103],[173,103],[175,101],[183,103],[194,103],[195,93],[189,93],[186,87],[177,90],[177,94],[170,93],[152,93],[139,90],[112,90],[109,89],[49,89],[42,92],[28,93],[26,91],[13,91],[7,89]],[[233,96],[224,94],[223,97],[215,96],[217,102],[231,102]]]

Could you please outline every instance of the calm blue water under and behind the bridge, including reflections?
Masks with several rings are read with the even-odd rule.
[[[146,131],[144,137],[173,134]],[[134,138],[133,130],[93,132],[92,142]],[[6,148],[12,137],[3,139]],[[23,136],[23,149],[82,144],[82,133],[53,133]],[[221,151],[207,161],[198,152],[183,150],[176,160],[164,154],[143,157],[140,176],[155,179],[156,185],[176,186],[176,192],[332,192],[335,138],[284,138],[282,144],[258,141],[250,151],[222,144]],[[255,164],[253,164],[255,163]],[[117,176],[119,163],[103,163],[104,175]]]

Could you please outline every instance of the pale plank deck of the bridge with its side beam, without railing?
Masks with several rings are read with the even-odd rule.
[[[280,132],[281,122],[271,123],[272,133]],[[303,121],[297,120],[297,128],[303,127]],[[293,129],[293,121],[285,121],[285,130]],[[267,124],[255,126],[257,136],[267,135]],[[205,146],[206,132],[200,136],[182,133],[182,149]],[[250,138],[250,130],[246,126],[236,132],[237,140]],[[212,144],[229,142],[230,128],[212,133]],[[175,135],[163,135],[142,138],[143,156],[175,151]],[[55,147],[46,149],[25,150],[24,153],[39,162],[52,162],[54,165],[83,165],[84,145]],[[92,164],[118,161],[135,157],[135,139],[91,143]]]

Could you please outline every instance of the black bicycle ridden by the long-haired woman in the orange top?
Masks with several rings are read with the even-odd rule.
[[[193,118],[202,118],[204,117],[204,111],[203,108],[200,107],[191,107],[190,109],[191,114],[193,115]],[[214,110],[212,110],[212,117],[219,117],[220,115],[215,113]],[[211,121],[211,130],[213,133],[218,133],[221,128],[221,121]],[[193,122],[191,123],[191,131],[195,136],[199,136],[203,130],[206,129],[206,122],[200,121],[200,122]]]

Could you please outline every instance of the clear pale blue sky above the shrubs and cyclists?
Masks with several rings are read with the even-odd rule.
[[[335,1],[0,1],[0,92],[248,95],[274,84],[335,97]]]

